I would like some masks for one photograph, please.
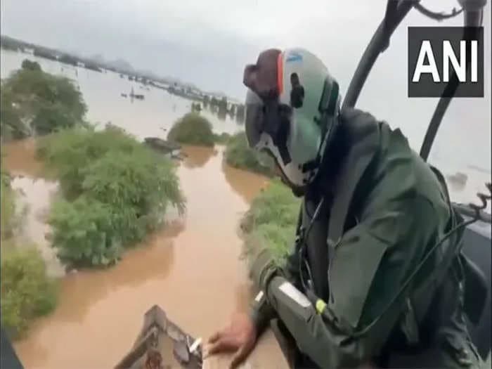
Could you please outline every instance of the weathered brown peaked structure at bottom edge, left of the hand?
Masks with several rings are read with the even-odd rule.
[[[154,305],[129,352],[115,369],[202,368],[202,340],[187,335]]]

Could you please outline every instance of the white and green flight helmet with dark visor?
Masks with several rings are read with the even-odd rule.
[[[247,65],[245,131],[250,147],[266,150],[292,188],[318,174],[338,122],[339,86],[323,62],[302,48],[269,49]]]

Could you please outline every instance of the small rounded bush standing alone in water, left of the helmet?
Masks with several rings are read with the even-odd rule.
[[[214,146],[212,124],[196,112],[188,112],[176,121],[167,139],[189,145]]]

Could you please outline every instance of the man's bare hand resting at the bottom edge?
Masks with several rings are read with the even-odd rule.
[[[236,368],[251,353],[256,342],[257,330],[252,319],[246,313],[237,313],[227,328],[219,330],[209,338],[205,357],[233,352],[231,368]]]

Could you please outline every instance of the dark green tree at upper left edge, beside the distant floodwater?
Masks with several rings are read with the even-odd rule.
[[[4,140],[50,134],[84,124],[86,105],[69,79],[50,75],[38,63],[22,62],[1,86],[1,135]]]

